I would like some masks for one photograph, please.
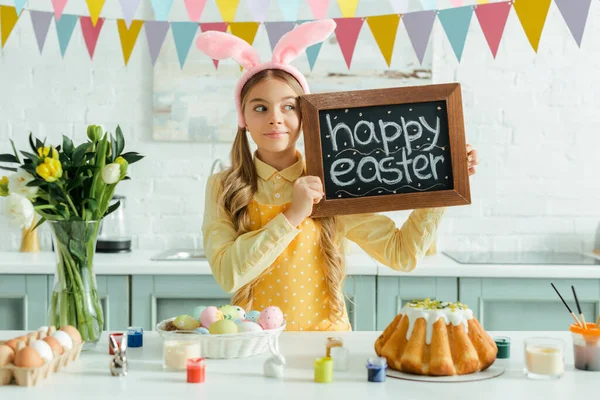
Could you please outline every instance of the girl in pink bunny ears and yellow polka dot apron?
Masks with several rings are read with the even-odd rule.
[[[310,218],[324,196],[320,178],[305,176],[298,96],[304,76],[289,62],[325,40],[333,20],[300,25],[284,35],[271,62],[233,35],[205,32],[197,46],[211,58],[245,68],[236,86],[238,131],[232,166],[208,179],[202,232],[213,275],[232,304],[281,308],[287,330],[350,330],[342,286],[341,244],[356,242],[379,262],[411,271],[432,245],[444,209],[417,209],[398,229],[379,214]],[[250,152],[247,133],[256,143]],[[478,163],[468,148],[469,173]]]

